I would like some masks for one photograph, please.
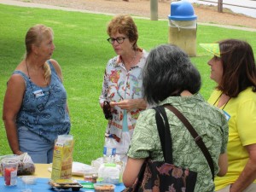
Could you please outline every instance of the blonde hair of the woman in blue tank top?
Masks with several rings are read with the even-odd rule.
[[[32,53],[32,45],[39,46],[44,38],[49,38],[53,36],[54,32],[48,26],[44,26],[42,24],[38,24],[36,26],[32,26],[26,32],[25,44],[26,44],[26,57]],[[44,79],[48,81],[51,75],[50,67],[45,62],[44,63]]]

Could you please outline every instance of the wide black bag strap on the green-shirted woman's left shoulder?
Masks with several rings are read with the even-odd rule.
[[[155,110],[157,130],[159,133],[160,143],[161,143],[165,162],[169,164],[173,164],[172,137],[171,137],[170,125],[168,123],[168,119],[166,115],[166,110],[161,106],[154,107],[154,110]],[[163,122],[163,119],[165,121],[165,124]]]

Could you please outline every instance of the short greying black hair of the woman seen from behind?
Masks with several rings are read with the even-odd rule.
[[[183,90],[195,94],[200,88],[201,75],[182,49],[162,44],[149,52],[143,68],[143,97],[149,104],[180,96]]]

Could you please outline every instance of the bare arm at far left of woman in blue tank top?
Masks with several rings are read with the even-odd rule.
[[[3,102],[3,122],[9,147],[14,154],[22,154],[19,148],[16,116],[19,113],[25,92],[25,82],[20,75],[12,75],[9,79]]]

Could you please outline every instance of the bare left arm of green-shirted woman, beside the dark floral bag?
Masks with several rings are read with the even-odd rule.
[[[143,166],[144,160],[145,159],[132,159],[128,157],[125,172],[123,174],[123,183],[125,184],[125,187],[131,187],[135,182],[137,175]]]

